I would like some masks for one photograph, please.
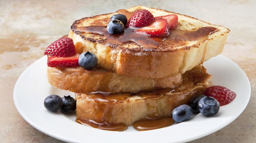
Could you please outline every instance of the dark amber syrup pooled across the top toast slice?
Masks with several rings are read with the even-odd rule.
[[[202,27],[197,31],[186,31],[179,29],[171,29],[170,34],[165,37],[153,37],[149,34],[141,34],[136,32],[134,28],[125,28],[123,32],[119,34],[110,34],[107,32],[107,26],[88,26],[88,27],[76,27],[72,28],[74,33],[87,33],[87,34],[99,34],[102,35],[102,42],[106,46],[116,47],[128,42],[134,42],[144,51],[157,51],[160,45],[166,39],[172,40],[186,40],[186,41],[198,41],[208,40],[208,36],[218,29],[215,27]]]

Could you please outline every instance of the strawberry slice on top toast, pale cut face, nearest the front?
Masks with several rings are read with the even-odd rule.
[[[163,37],[169,35],[169,26],[165,19],[159,18],[152,24],[135,29],[135,31],[151,34],[152,36]]]

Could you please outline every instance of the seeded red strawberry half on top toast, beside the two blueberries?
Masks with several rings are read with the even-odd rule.
[[[131,16],[126,24],[126,28],[130,26],[144,27],[151,24],[153,21],[155,21],[155,18],[152,13],[150,13],[148,10],[139,10]]]

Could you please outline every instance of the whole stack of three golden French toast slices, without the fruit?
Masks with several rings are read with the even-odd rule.
[[[162,38],[127,31],[113,36],[102,30],[113,15],[124,14],[129,20],[142,9],[154,17],[177,15],[177,27]],[[144,6],[82,18],[71,26],[68,37],[76,53],[94,53],[97,66],[48,67],[48,82],[75,92],[77,119],[131,126],[170,118],[174,108],[204,93],[211,75],[202,64],[221,54],[228,32],[223,26]],[[152,40],[158,41],[156,46]]]

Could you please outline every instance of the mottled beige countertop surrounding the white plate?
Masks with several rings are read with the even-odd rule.
[[[0,142],[62,142],[38,131],[19,115],[13,102],[18,77],[44,56],[50,43],[68,34],[75,20],[136,5],[174,11],[230,29],[222,55],[234,61],[247,75],[251,85],[250,101],[229,125],[191,142],[255,142],[255,0],[0,0]]]

